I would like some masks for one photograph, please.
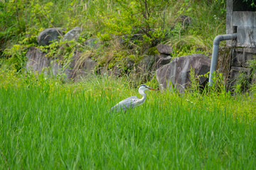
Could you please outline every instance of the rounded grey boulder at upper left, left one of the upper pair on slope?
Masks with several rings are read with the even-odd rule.
[[[63,35],[63,28],[47,28],[39,33],[37,42],[39,45],[50,45],[51,42],[60,39]]]

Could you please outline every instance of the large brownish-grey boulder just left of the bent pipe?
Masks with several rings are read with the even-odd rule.
[[[190,84],[190,72],[194,70],[196,76],[204,75],[210,71],[210,58],[203,54],[175,57],[169,64],[156,70],[156,79],[161,89],[174,86],[183,92]],[[199,77],[199,84],[206,84],[206,77]]]

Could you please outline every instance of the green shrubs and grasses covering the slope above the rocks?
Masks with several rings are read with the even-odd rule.
[[[103,44],[91,55],[100,67],[108,69],[124,57],[139,62],[144,55],[154,53],[159,42],[173,46],[174,57],[196,53],[198,47],[211,52],[215,35],[225,33],[225,1],[215,0],[18,0],[0,1],[0,11],[0,55],[15,69],[23,66],[28,47],[38,47],[38,33],[46,28],[61,27],[66,32],[75,26],[83,29],[78,42],[45,47],[50,56],[60,58],[74,49],[88,53],[82,42],[100,38]],[[189,16],[189,20],[183,22],[181,15]],[[134,33],[142,37],[132,40]]]

